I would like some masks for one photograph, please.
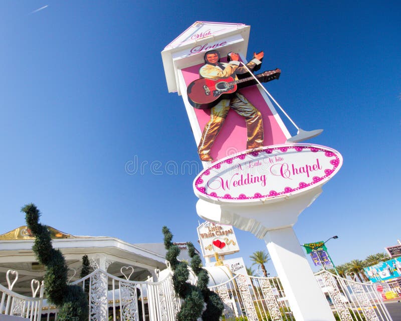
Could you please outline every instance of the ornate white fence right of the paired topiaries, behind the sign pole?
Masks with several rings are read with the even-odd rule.
[[[337,320],[391,321],[374,284],[341,278],[325,270],[315,276]],[[277,277],[236,275],[211,289],[224,302],[225,320],[241,317],[247,317],[248,321],[295,320]]]

